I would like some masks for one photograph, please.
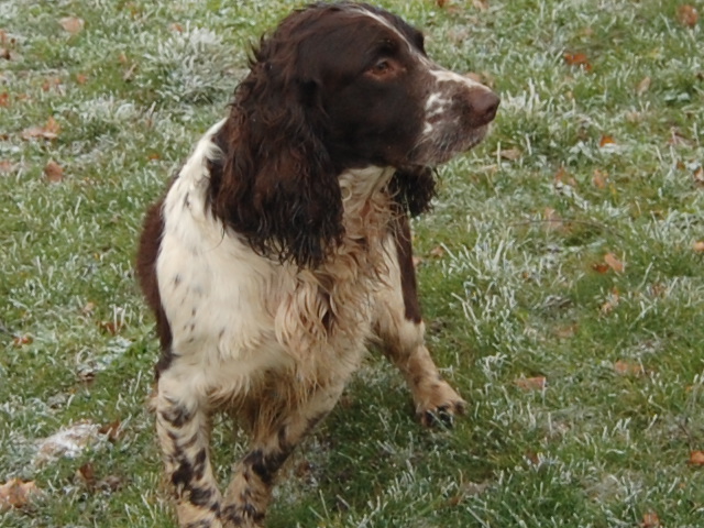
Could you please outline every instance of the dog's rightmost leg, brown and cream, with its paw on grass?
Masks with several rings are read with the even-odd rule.
[[[432,426],[440,420],[451,425],[466,404],[442,380],[425,345],[408,218],[394,221],[386,253],[387,287],[377,295],[375,323],[384,353],[404,374],[421,424]]]

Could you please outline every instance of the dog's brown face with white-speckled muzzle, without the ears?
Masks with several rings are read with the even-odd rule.
[[[388,12],[346,6],[296,30],[304,99],[322,110],[333,157],[437,165],[476,145],[496,114],[495,94],[430,61],[422,34]]]

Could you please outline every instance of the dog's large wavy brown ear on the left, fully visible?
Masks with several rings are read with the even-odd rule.
[[[211,207],[252,249],[315,267],[342,238],[338,175],[323,145],[317,85],[292,72],[292,51],[262,42],[215,139]]]

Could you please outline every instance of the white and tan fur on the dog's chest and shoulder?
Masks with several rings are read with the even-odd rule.
[[[340,176],[345,241],[322,268],[299,271],[255,254],[207,211],[207,160],[219,155],[211,139],[221,125],[200,140],[164,202],[156,271],[174,360],[160,386],[179,398],[227,399],[246,395],[271,373],[314,384],[336,369],[346,376],[371,333],[370,299],[389,215],[384,186],[394,170]],[[320,298],[328,283],[334,286],[329,306]],[[332,334],[322,324],[327,311],[343,321]],[[349,364],[331,369],[334,362]]]

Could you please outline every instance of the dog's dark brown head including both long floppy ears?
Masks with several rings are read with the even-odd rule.
[[[499,99],[428,58],[422,34],[363,3],[319,3],[262,38],[217,136],[212,209],[263,254],[316,266],[341,240],[338,176],[394,167],[398,201],[428,207],[431,167],[485,135]]]

